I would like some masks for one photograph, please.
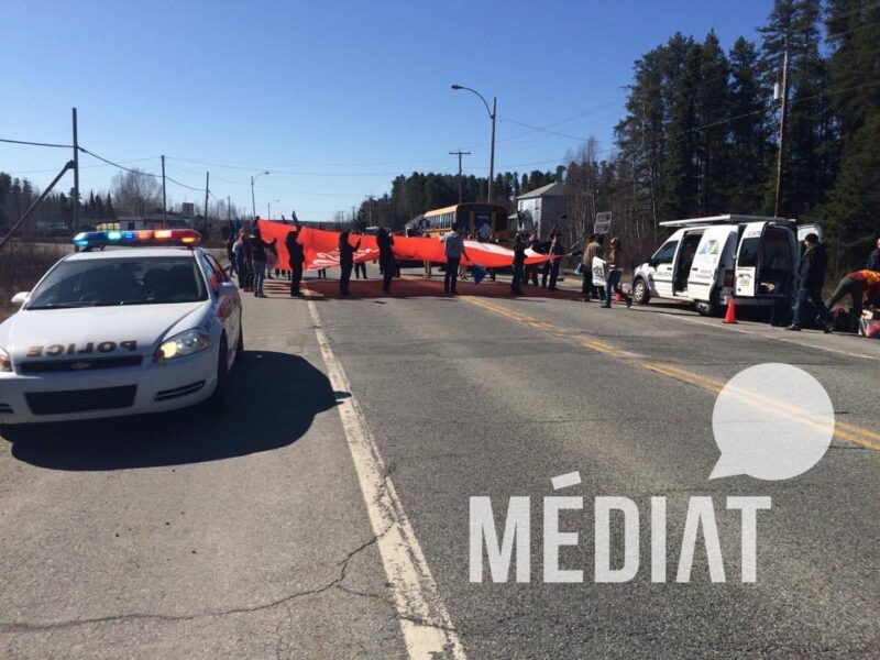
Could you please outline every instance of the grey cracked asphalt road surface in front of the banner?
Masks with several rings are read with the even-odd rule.
[[[427,629],[446,640],[439,657],[880,652],[880,342],[675,306],[604,310],[565,292],[514,300],[502,284],[447,298],[436,279],[396,280],[392,296],[355,280],[344,300],[332,280],[308,287],[310,301],[278,283],[245,296],[224,418],[2,430],[0,657],[397,658],[428,648]],[[765,362],[824,385],[837,436],[794,479],[708,481],[718,388]],[[575,471],[580,485],[553,491]],[[561,514],[580,536],[560,552],[583,582],[543,582],[553,495],[583,497]],[[515,562],[507,583],[488,569],[470,582],[472,496],[491,497],[499,530],[508,498],[530,497],[528,583],[513,581]],[[638,507],[628,582],[594,582],[597,496]],[[652,583],[659,496],[668,580]],[[702,541],[690,582],[675,582],[698,496],[714,505],[723,583]],[[729,496],[772,499],[754,584],[740,581]],[[614,565],[622,537],[613,518]]]

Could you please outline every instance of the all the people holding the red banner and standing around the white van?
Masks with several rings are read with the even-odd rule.
[[[289,255],[287,264],[278,262],[277,240],[266,242],[262,239],[258,221],[254,223],[252,233],[249,234],[242,229],[237,237],[229,237],[227,253],[230,271],[238,278],[242,290],[252,292],[257,298],[265,297],[263,293],[264,282],[267,278],[272,279],[274,273],[275,278],[289,280],[290,297],[302,295],[300,283],[306,256],[299,239],[300,229],[299,222],[295,221],[285,239],[285,248]],[[468,238],[473,239],[474,237]],[[447,295],[455,296],[458,295],[459,279],[463,276],[466,277],[466,267],[462,265],[462,260],[471,261],[465,246],[465,235],[462,228],[458,223],[453,223],[451,230],[440,240],[443,243],[447,261],[443,290]],[[482,240],[486,239],[483,238]],[[382,290],[388,294],[391,293],[394,277],[399,277],[400,268],[394,255],[394,235],[385,228],[380,228],[376,232],[376,245],[378,248],[378,265],[382,274]],[[355,253],[360,249],[360,238],[352,242],[351,232],[343,231],[340,234],[339,265],[341,274],[339,288],[341,296],[351,295],[352,272],[358,278],[367,278],[366,263],[354,262]],[[542,263],[527,264],[529,250],[537,254],[552,255],[553,258]],[[528,285],[557,290],[560,262],[568,254],[560,232],[552,230],[546,241],[542,241],[537,232],[531,234],[518,233],[514,238],[513,252],[512,296],[521,296],[524,293],[522,287]],[[623,301],[627,307],[632,305],[632,298],[620,286],[624,270],[624,246],[619,238],[612,238],[606,251],[605,235],[591,235],[583,251],[572,254],[582,257],[581,300],[600,299],[597,287],[593,282],[594,260],[598,257],[603,264],[605,278],[602,307],[610,308],[612,302],[615,300]],[[473,267],[479,268],[479,266]],[[803,252],[798,268],[794,316],[789,330],[799,331],[804,327],[812,326],[814,320],[818,320],[826,332],[832,332],[836,326],[836,319],[831,310],[847,297],[851,301],[850,317],[856,319],[861,317],[866,306],[872,309],[880,309],[880,239],[877,240],[877,246],[868,257],[866,267],[854,271],[843,277],[834,293],[823,300],[822,289],[825,285],[826,271],[827,255],[825,246],[820,242],[818,235],[815,233],[807,234],[803,241]],[[494,280],[494,270],[491,268],[488,273]],[[483,274],[485,274],[485,271],[483,271]],[[426,276],[430,277],[428,265],[426,265]],[[327,278],[324,268],[318,271],[318,278]],[[479,282],[476,276],[474,279]]]

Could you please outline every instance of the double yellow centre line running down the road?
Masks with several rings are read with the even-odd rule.
[[[703,376],[701,374],[694,373],[689,370],[684,370],[678,366],[672,366],[670,364],[660,364],[656,362],[648,362],[646,360],[640,359],[640,356],[625,351],[614,344],[610,344],[606,341],[601,341],[597,339],[593,339],[583,332],[579,332],[576,330],[571,330],[569,328],[562,328],[560,326],[556,326],[549,321],[543,319],[537,319],[530,317],[528,315],[519,314],[517,311],[513,311],[507,309],[501,305],[496,305],[494,302],[487,301],[485,298],[477,298],[473,296],[460,296],[461,300],[474,305],[476,307],[481,307],[487,311],[492,311],[493,314],[497,314],[499,316],[509,318],[515,321],[519,321],[525,323],[536,330],[540,330],[548,334],[553,334],[556,337],[562,339],[573,339],[580,345],[609,355],[612,358],[616,358],[619,360],[626,360],[636,366],[640,366],[642,369],[647,369],[653,373],[658,373],[664,375],[670,378],[674,378],[676,381],[681,381],[684,383],[689,383],[691,385],[695,385],[702,389],[706,389],[708,392],[713,392],[715,394],[719,393],[725,383],[718,381],[716,378],[711,378],[708,376]],[[751,395],[749,392],[740,391],[735,393],[740,399],[748,403],[754,407],[758,407],[761,409],[766,409],[772,411],[774,414],[779,414],[782,411],[787,414],[787,416],[798,419],[804,426],[822,430],[825,427],[814,419],[814,414],[805,408],[801,408],[795,405],[787,404],[784,402],[774,402],[774,400],[766,400],[760,399],[759,397]],[[773,406],[777,407],[773,407]],[[834,436],[835,438],[839,438],[842,440],[846,440],[848,442],[853,442],[860,447],[866,447],[868,449],[880,450],[880,433],[872,431],[870,429],[866,429],[860,426],[847,424],[844,421],[835,421],[834,428]]]

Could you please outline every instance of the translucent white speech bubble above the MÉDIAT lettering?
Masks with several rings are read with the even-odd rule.
[[[739,372],[718,394],[712,430],[722,455],[710,479],[791,479],[825,455],[834,437],[834,407],[805,371],[758,364]]]

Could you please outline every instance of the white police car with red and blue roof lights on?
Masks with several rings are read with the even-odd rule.
[[[16,295],[21,309],[0,323],[0,425],[222,410],[243,350],[241,298],[199,240],[78,234],[82,251]]]

